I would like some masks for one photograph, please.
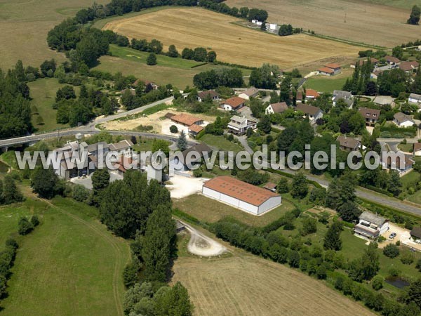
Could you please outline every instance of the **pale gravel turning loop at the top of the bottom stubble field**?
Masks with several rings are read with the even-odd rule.
[[[220,256],[227,251],[225,246],[222,246],[219,242],[216,242],[210,237],[199,232],[199,230],[196,230],[192,228],[192,226],[181,221],[180,223],[185,225],[185,228],[190,232],[191,237],[189,244],[187,244],[187,250],[190,253],[202,257],[215,257]]]

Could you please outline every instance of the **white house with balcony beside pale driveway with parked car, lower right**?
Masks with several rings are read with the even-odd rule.
[[[354,226],[354,234],[363,239],[377,239],[389,230],[389,221],[369,211],[363,211],[359,223]]]

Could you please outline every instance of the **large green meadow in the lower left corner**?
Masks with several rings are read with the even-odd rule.
[[[0,208],[0,241],[16,235],[19,216],[35,213],[41,219],[34,232],[18,237],[2,315],[123,315],[128,244],[107,231],[96,212],[63,198],[53,206],[28,199]]]

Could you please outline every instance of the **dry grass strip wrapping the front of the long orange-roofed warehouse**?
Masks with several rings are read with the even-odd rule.
[[[281,206],[278,206],[276,209],[273,209],[262,216],[254,216],[203,195],[190,195],[184,199],[174,199],[173,206],[174,208],[180,209],[180,211],[207,223],[215,223],[221,218],[230,216],[247,225],[258,227],[272,223],[287,211],[294,209],[293,204],[283,200]]]

